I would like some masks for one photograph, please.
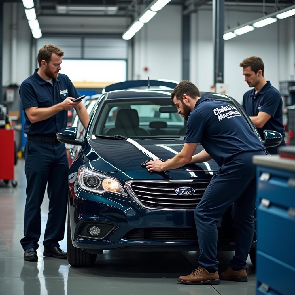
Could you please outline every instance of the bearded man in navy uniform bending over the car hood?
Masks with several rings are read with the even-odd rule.
[[[256,199],[256,170],[252,157],[265,155],[265,148],[234,106],[201,97],[193,83],[180,82],[171,93],[171,100],[178,114],[187,120],[185,144],[174,158],[165,162],[150,161],[146,168],[160,172],[212,158],[220,166],[194,212],[200,266],[190,275],[179,277],[178,282],[219,284],[219,278],[246,282],[245,266],[254,233]],[[204,150],[194,155],[199,142]],[[235,256],[227,271],[219,276],[217,222],[232,204],[237,219]]]

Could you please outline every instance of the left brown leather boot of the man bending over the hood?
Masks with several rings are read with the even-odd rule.
[[[218,272],[209,273],[205,268],[199,266],[188,276],[180,276],[177,280],[179,283],[189,284],[189,285],[219,285],[219,276]]]

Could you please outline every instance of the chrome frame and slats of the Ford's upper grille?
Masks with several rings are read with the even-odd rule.
[[[138,183],[138,182],[148,182],[148,183],[179,183],[179,184],[186,184],[188,182],[192,182],[191,180],[157,180],[157,181],[154,181],[154,180],[145,180],[145,179],[141,179],[141,180],[127,180],[125,182],[125,185],[124,185],[124,188],[126,189],[127,193],[129,194],[129,196],[135,201],[135,203],[137,203],[140,207],[143,207],[145,209],[151,209],[151,210],[156,210],[156,211],[194,211],[195,208],[191,208],[191,209],[179,209],[179,208],[165,208],[165,207],[150,207],[150,206],[147,206],[145,204],[142,203],[142,201],[137,197],[137,195],[135,194],[135,192],[133,191],[132,187],[131,187],[131,184],[134,184],[134,183]],[[209,184],[210,181],[206,181],[206,182],[196,182],[194,184]],[[147,189],[150,189],[148,187],[145,187]],[[174,189],[175,190],[175,189]],[[204,189],[206,190],[206,188]],[[146,192],[145,192],[146,193]],[[159,193],[160,194],[160,193]],[[177,194],[176,194],[177,195]],[[202,195],[202,194],[194,194],[194,195]],[[194,196],[192,195],[192,196]],[[139,195],[141,196],[141,195]],[[145,197],[147,198],[148,196],[142,196],[142,197]],[[164,198],[163,198],[164,199]],[[177,200],[177,199],[174,199],[174,200]],[[182,199],[184,200],[184,199]],[[191,199],[191,200],[194,200],[194,199]],[[201,200],[201,198],[199,199]],[[152,204],[163,204],[163,205],[182,205],[182,206],[186,206],[186,205],[197,205],[198,203],[192,203],[192,204],[174,204],[174,203],[160,203],[160,202],[151,202],[151,201],[145,201],[145,202],[149,202],[149,203],[152,203]]]

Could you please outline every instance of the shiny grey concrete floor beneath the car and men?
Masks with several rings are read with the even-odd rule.
[[[3,167],[2,167],[3,168]],[[221,281],[220,285],[183,285],[178,276],[198,267],[198,253],[132,253],[104,251],[92,268],[73,268],[67,260],[43,257],[42,239],[48,213],[48,198],[41,207],[42,232],[38,262],[23,260],[19,240],[23,237],[26,179],[24,161],[15,167],[18,186],[0,183],[0,294],[1,295],[100,295],[186,294],[252,295],[255,272],[248,258],[248,283]],[[66,239],[60,248],[66,250]],[[218,254],[219,269],[227,268],[233,252]]]

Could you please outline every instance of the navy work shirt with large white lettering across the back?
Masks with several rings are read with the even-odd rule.
[[[185,142],[200,142],[219,166],[238,153],[265,150],[235,106],[205,96],[189,114]]]

